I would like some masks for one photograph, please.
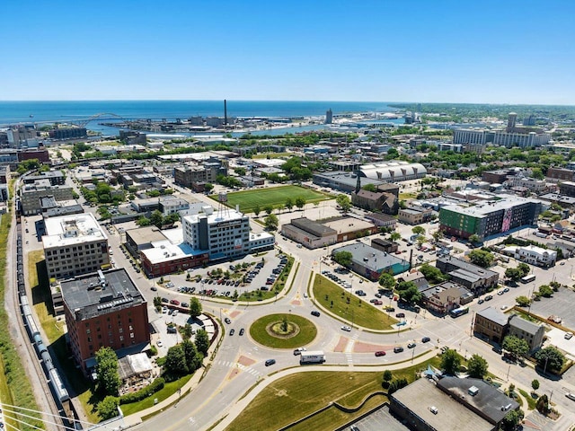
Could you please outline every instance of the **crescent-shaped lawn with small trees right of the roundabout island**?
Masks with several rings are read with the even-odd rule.
[[[371,330],[391,330],[392,325],[397,323],[381,306],[366,303],[326,277],[316,276],[312,288],[315,300],[323,308],[346,321]]]

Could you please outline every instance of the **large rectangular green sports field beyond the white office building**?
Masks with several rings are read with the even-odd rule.
[[[217,200],[217,195],[211,195],[210,198]],[[288,198],[294,203],[296,198],[305,198],[305,202],[309,204],[329,200],[332,197],[299,186],[279,186],[228,193],[227,204],[229,207],[239,205],[240,211],[247,214],[252,213],[256,206],[260,207],[261,212],[267,205],[274,208],[283,207]]]

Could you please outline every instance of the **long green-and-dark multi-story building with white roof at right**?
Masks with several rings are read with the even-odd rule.
[[[520,226],[536,224],[541,202],[529,198],[508,197],[441,207],[440,229],[450,236],[481,239],[508,232]]]

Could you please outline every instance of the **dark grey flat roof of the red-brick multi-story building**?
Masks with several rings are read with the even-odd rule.
[[[76,321],[146,302],[124,268],[75,277],[60,283],[60,289]]]

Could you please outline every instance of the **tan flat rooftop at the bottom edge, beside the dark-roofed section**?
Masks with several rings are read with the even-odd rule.
[[[493,425],[466,409],[447,393],[440,391],[431,380],[421,378],[394,392],[392,398],[411,410],[434,429],[461,429],[465,431],[491,431]],[[435,407],[434,414],[430,408]]]

